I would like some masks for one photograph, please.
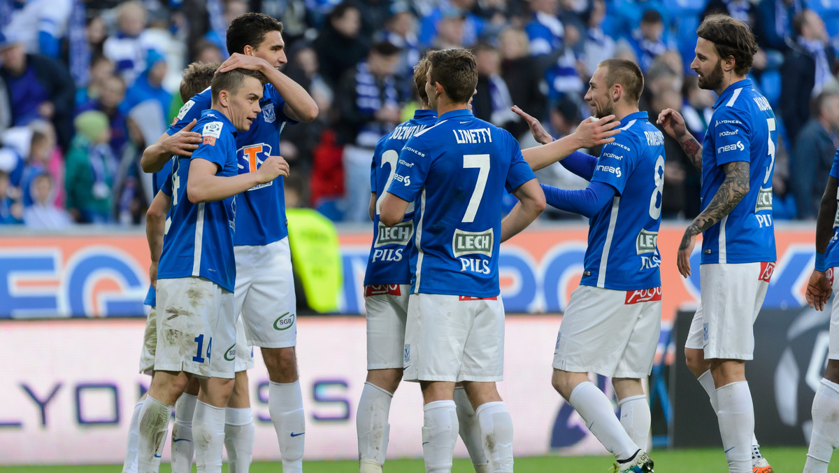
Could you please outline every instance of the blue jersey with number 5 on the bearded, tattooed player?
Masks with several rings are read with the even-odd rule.
[[[778,131],[775,114],[752,81],[722,92],[702,143],[702,209],[726,178],[722,166],[749,164],[748,193],[722,221],[702,234],[702,264],[775,260],[772,173]]]

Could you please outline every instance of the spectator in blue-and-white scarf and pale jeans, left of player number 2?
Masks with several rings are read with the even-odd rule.
[[[341,117],[341,142],[346,201],[344,219],[369,219],[370,160],[376,143],[399,124],[399,92],[393,74],[399,48],[387,42],[373,45],[367,60],[347,71],[336,94]]]

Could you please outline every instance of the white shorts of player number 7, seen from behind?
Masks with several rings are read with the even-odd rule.
[[[411,294],[403,361],[405,381],[501,381],[501,297]]]

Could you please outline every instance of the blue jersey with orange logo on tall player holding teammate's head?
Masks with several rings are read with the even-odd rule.
[[[201,111],[210,108],[211,92],[195,94],[180,108],[175,124],[166,133],[175,134],[201,115]],[[270,155],[279,155],[279,134],[287,122],[283,108],[285,101],[271,84],[263,87],[263,97],[259,101],[262,111],[253,120],[247,132],[237,135],[236,150],[240,174],[256,171]],[[238,196],[236,212],[237,232],[235,244],[269,244],[284,239],[289,234],[285,217],[285,192],[283,176],[274,181],[242,192]]]

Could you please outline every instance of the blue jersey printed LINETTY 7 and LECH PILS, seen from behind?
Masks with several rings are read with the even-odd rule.
[[[414,202],[411,291],[498,296],[502,197],[535,179],[519,143],[466,109],[443,114],[399,153],[388,192]]]

